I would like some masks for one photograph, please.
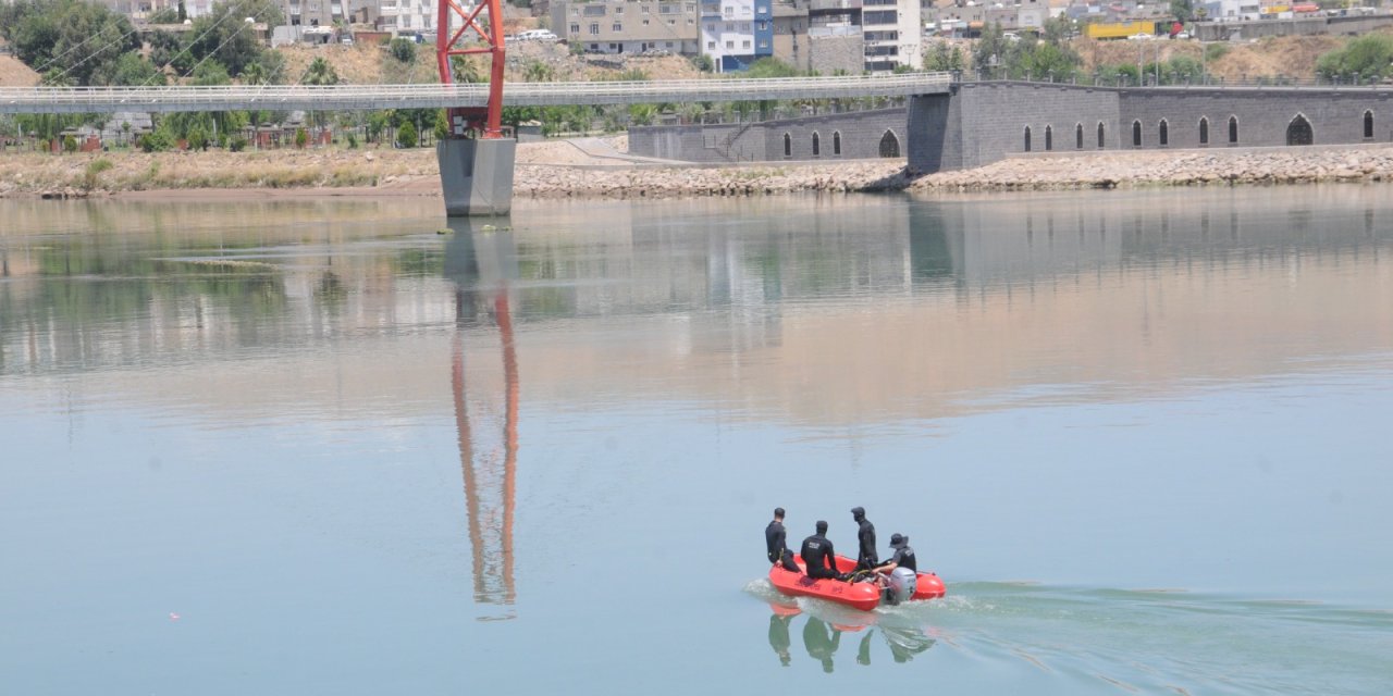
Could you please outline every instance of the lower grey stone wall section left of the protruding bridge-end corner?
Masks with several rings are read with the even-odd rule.
[[[851,160],[879,157],[885,141],[903,157],[908,152],[907,122],[904,109],[878,109],[754,124],[632,127],[628,152],[699,163]]]

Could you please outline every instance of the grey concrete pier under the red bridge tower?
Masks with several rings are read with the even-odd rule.
[[[436,143],[440,189],[450,217],[503,216],[513,209],[513,138],[447,138]]]

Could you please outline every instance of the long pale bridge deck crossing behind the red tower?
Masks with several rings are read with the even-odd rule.
[[[848,99],[947,92],[949,72],[769,79],[662,79],[644,82],[508,82],[506,106],[755,102]],[[162,88],[0,88],[0,113],[109,111],[376,111],[485,106],[489,86],[472,85],[265,85]]]

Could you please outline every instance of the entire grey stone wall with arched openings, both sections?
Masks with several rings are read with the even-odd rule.
[[[1230,118],[1237,125],[1233,143]],[[1202,120],[1208,124],[1208,143],[1201,143]],[[1134,122],[1141,127],[1139,146],[1133,139]],[[819,136],[818,155],[812,152],[814,132]],[[840,155],[834,132],[840,134]],[[949,95],[912,97],[907,109],[744,125],[631,128],[630,152],[702,163],[873,159],[880,156],[886,134],[910,168],[919,173],[974,168],[1027,152],[1268,148],[1289,145],[1289,135],[1295,145],[1305,138],[1314,145],[1393,142],[1393,89],[1113,89],[965,82]]]

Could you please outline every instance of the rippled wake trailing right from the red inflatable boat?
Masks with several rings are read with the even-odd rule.
[[[1393,674],[1386,610],[1007,582],[954,583],[943,599],[873,611],[783,597],[763,579],[745,592],[769,604],[770,636],[802,614],[815,622],[808,635],[826,625],[833,636],[819,644],[836,644],[839,633],[879,633],[896,663],[937,646],[935,661],[1042,671],[1077,679],[1073,690],[1291,693],[1318,677],[1322,693],[1380,693]],[[858,663],[865,657],[858,653]]]

